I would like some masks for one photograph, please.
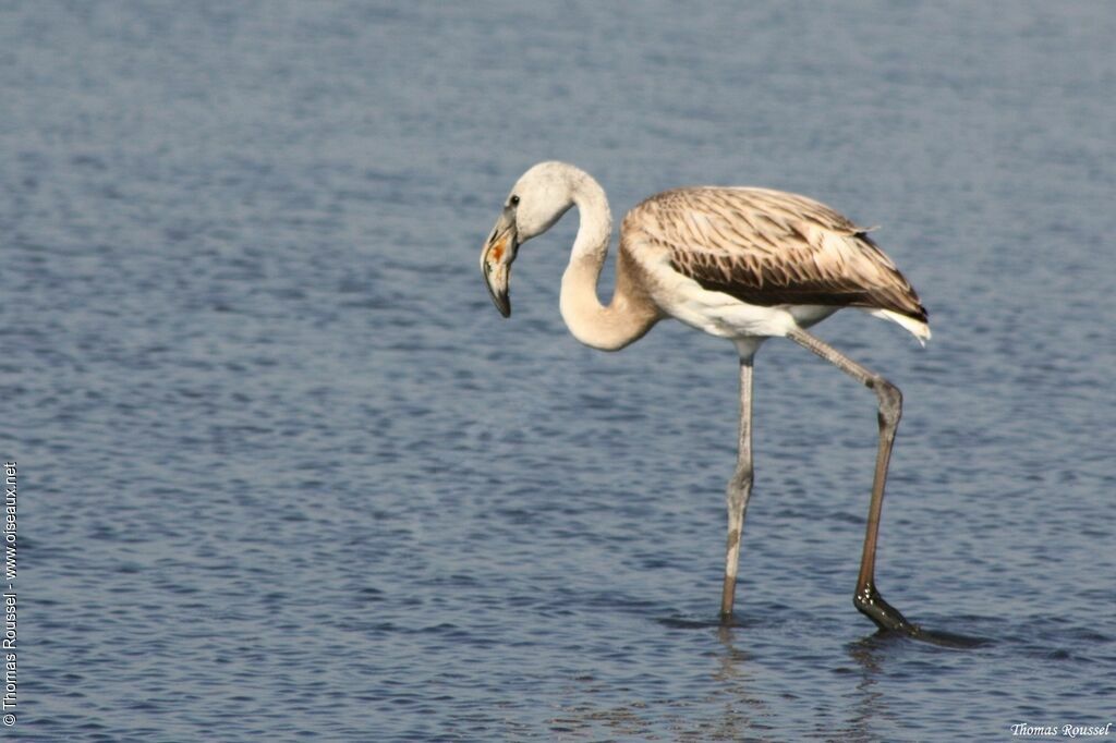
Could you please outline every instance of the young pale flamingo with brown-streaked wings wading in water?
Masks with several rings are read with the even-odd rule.
[[[676,189],[646,199],[625,215],[616,288],[604,306],[597,282],[612,238],[605,191],[574,165],[543,162],[516,182],[481,252],[481,272],[504,317],[511,315],[508,284],[520,245],[575,205],[580,225],[561,279],[560,310],[577,340],[619,350],[658,320],[675,318],[732,340],[740,356],[739,453],[728,485],[721,623],[732,623],[752,490],[752,361],[764,340],[782,337],[876,395],[879,441],[853,601],[881,629],[917,634],[917,626],[883,599],[875,582],[884,485],[903,396],[891,382],[807,331],[837,310],[855,307],[898,324],[925,345],[926,310],[895,263],[868,230],[806,196],[756,187]]]

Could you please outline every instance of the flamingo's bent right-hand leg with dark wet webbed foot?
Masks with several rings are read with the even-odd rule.
[[[881,629],[918,634],[918,627],[911,624],[889,605],[876,590],[876,542],[879,538],[879,515],[884,508],[884,485],[887,481],[887,464],[892,457],[895,431],[903,414],[903,394],[898,387],[846,357],[836,348],[815,338],[802,329],[792,330],[788,337],[804,348],[817,354],[845,374],[876,393],[879,405],[879,448],[876,452],[876,473],[872,482],[872,503],[868,506],[868,525],[864,535],[864,553],[860,557],[860,573],[856,579],[853,604]]]

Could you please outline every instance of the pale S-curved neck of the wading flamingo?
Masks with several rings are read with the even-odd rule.
[[[605,190],[589,174],[578,172],[571,180],[581,224],[561,278],[561,317],[586,346],[619,350],[643,337],[658,319],[658,311],[624,255],[616,264],[613,299],[607,307],[600,303],[597,281],[608,254],[613,215]]]

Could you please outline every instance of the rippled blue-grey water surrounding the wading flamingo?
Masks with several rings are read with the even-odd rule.
[[[741,6],[743,3],[740,3]],[[38,2],[0,9],[19,740],[1001,740],[1116,706],[1116,11],[1107,3]],[[818,197],[922,293],[820,336],[906,416],[852,606],[872,397],[557,311],[570,214],[477,271],[558,157],[617,214]],[[6,730],[6,734],[12,733]]]

